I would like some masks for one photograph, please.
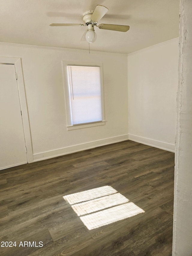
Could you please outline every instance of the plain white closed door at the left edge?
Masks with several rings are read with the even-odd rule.
[[[27,163],[15,65],[0,64],[0,170]]]

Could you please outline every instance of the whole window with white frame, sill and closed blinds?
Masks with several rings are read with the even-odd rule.
[[[64,62],[64,78],[68,130],[104,125],[102,65]]]

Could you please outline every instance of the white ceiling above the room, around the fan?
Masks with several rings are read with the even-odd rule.
[[[1,0],[0,42],[88,50],[80,41],[87,26],[51,27],[50,23],[83,23],[82,14],[104,5],[98,22],[129,25],[128,32],[95,28],[91,51],[132,53],[179,36],[179,0]]]

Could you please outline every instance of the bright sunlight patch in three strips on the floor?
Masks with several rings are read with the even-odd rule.
[[[63,198],[71,204],[89,230],[145,212],[111,186],[89,189]]]

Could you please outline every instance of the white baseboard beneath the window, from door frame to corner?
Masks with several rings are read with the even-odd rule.
[[[113,144],[113,143],[117,143],[124,140],[128,140],[128,134],[117,136],[117,137],[111,137],[103,140],[95,140],[95,141],[91,141],[91,142],[87,142],[87,143],[83,143],[75,146],[70,146],[66,148],[54,149],[46,152],[37,153],[33,155],[33,159],[34,159],[33,161],[36,162],[36,161],[41,161],[41,160],[45,160],[45,159],[49,159],[49,158],[53,158],[61,155],[67,155],[74,152],[96,148],[96,147],[100,147],[108,144]]]

